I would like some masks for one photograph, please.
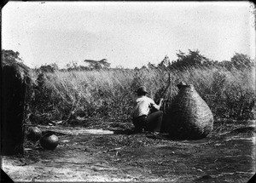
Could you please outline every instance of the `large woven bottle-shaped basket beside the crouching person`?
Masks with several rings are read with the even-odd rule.
[[[179,92],[166,108],[166,123],[170,137],[201,139],[213,129],[212,112],[193,85],[178,84]]]

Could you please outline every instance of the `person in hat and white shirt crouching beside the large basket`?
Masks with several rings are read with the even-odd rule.
[[[137,89],[137,100],[135,101],[131,112],[132,123],[135,126],[135,132],[141,133],[144,130],[160,133],[163,112],[160,111],[163,99],[160,99],[160,104],[156,105],[154,100],[146,96],[148,94],[145,87]]]

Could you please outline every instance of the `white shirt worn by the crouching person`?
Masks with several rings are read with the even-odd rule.
[[[150,99],[147,96],[139,96],[135,101],[135,105],[131,112],[131,117],[140,117],[143,115],[148,115],[150,111],[150,106],[154,106],[157,110],[160,110],[160,106],[154,103],[154,100]]]

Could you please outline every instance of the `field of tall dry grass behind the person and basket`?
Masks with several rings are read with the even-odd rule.
[[[253,118],[255,102],[254,67],[243,71],[216,67],[188,68],[170,72],[170,95],[177,94],[177,83],[194,84],[207,101],[215,118]],[[50,120],[72,117],[105,120],[129,120],[135,90],[144,85],[158,101],[168,84],[169,71],[102,70],[55,71],[38,77],[32,100],[32,112],[45,114]],[[71,118],[70,118],[71,117]]]

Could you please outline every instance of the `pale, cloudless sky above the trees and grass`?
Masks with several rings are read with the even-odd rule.
[[[249,2],[9,2],[2,9],[2,49],[26,66],[107,59],[112,67],[159,64],[178,50],[212,60],[255,58]]]

